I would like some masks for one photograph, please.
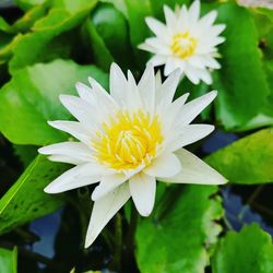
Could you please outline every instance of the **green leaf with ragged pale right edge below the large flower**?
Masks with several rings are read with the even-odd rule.
[[[201,273],[207,249],[221,227],[217,191],[210,186],[171,186],[155,212],[136,229],[136,260],[142,273]]]

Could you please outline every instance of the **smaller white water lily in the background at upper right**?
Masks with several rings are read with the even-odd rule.
[[[200,1],[197,0],[189,10],[182,5],[173,12],[165,5],[164,13],[166,25],[146,17],[146,24],[156,37],[145,39],[139,48],[154,54],[150,60],[154,66],[165,64],[165,75],[180,69],[192,83],[198,84],[202,80],[211,84],[210,70],[221,67],[215,60],[215,46],[225,40],[218,36],[225,25],[213,25],[217,12],[211,11],[200,19]]]

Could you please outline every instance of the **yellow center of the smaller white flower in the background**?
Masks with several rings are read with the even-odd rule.
[[[178,33],[173,36],[171,50],[175,56],[186,59],[193,55],[197,48],[197,39],[189,32]]]

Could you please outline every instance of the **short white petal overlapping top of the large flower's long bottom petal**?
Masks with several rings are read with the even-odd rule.
[[[115,188],[123,183],[128,178],[123,174],[114,174],[109,176],[103,176],[100,183],[95,188],[92,193],[92,200],[96,201],[105,194],[112,191]]]

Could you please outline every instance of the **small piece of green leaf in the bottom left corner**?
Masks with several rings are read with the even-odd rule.
[[[0,272],[16,273],[17,272],[17,250],[8,250],[0,248]]]

